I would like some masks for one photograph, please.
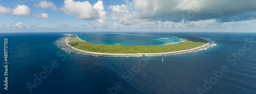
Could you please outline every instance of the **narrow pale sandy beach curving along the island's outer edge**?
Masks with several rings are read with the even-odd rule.
[[[66,35],[66,36],[69,36],[69,35]],[[199,48],[202,48],[202,47],[205,47],[205,46],[209,45],[209,43],[210,43],[210,42],[208,42],[207,44],[205,44],[203,46],[199,46],[199,47],[192,48],[192,49],[173,51],[173,52],[164,52],[164,53],[98,53],[98,52],[89,52],[89,51],[84,51],[84,50],[80,50],[80,49],[74,48],[74,47],[72,47],[72,46],[70,46],[68,44],[69,43],[69,41],[67,41],[68,38],[70,38],[70,37],[65,38],[64,42],[65,42],[66,45],[68,45],[72,49],[75,49],[75,50],[81,51],[81,52],[92,53],[92,54],[100,54],[100,55],[158,55],[158,54],[172,54],[172,53],[180,53],[180,52],[186,52],[186,51],[191,51],[191,50],[199,49]]]

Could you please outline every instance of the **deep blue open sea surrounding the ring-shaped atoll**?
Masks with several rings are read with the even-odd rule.
[[[61,34],[67,33],[0,33],[0,93],[164,94],[198,93],[199,88],[203,93],[256,93],[256,33],[126,33],[202,37],[217,45],[182,54],[123,57],[70,53],[56,44],[65,37]],[[8,90],[3,85],[4,38]],[[50,74],[45,67],[52,68]]]

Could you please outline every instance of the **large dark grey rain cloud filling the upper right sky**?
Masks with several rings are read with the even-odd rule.
[[[141,3],[144,3],[143,5]],[[179,22],[218,19],[222,22],[255,19],[254,0],[134,0],[136,15],[142,19]]]

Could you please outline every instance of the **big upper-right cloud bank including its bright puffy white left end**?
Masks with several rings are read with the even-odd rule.
[[[218,19],[221,22],[255,19],[256,1],[210,0],[134,0],[126,5],[109,6],[113,19],[121,24],[137,24],[144,20],[198,21]],[[218,6],[218,7],[216,7]],[[127,8],[131,8],[130,10]],[[245,15],[246,14],[246,15]],[[121,15],[121,16],[120,16]],[[233,18],[228,19],[226,18]],[[143,20],[144,19],[144,20]],[[132,22],[129,22],[133,20]]]

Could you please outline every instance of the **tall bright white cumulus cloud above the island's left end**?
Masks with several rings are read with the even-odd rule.
[[[60,8],[67,15],[76,15],[78,19],[97,20],[99,27],[106,26],[106,12],[102,1],[98,1],[94,6],[88,1],[75,2],[73,0],[65,0],[63,7]]]

